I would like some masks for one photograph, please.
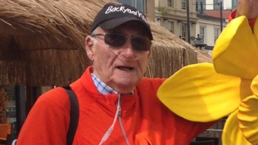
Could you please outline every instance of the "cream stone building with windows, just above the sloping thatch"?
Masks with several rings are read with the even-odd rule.
[[[189,1],[190,36],[195,36],[195,0]],[[187,41],[186,0],[155,0],[155,23]]]

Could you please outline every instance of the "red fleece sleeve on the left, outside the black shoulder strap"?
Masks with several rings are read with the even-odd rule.
[[[56,88],[38,98],[18,136],[17,145],[66,144],[70,101],[66,91]]]

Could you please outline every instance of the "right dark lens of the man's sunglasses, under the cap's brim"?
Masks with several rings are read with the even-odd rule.
[[[148,51],[150,50],[151,41],[142,37],[133,37],[132,45],[135,50]]]

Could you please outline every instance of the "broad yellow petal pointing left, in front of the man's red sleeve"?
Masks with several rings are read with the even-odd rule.
[[[169,77],[157,96],[177,115],[192,121],[218,120],[240,103],[239,77],[218,74],[210,63],[192,64]],[[249,88],[243,87],[243,89]]]

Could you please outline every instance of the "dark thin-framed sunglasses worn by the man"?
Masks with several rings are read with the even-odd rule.
[[[127,39],[131,39],[131,44],[133,49],[138,51],[149,51],[151,46],[151,41],[143,36],[133,36],[128,37],[123,34],[118,33],[110,33],[106,32],[103,34],[93,34],[92,37],[95,36],[104,36],[105,44],[108,44],[110,46],[120,47],[123,46],[126,43]]]

